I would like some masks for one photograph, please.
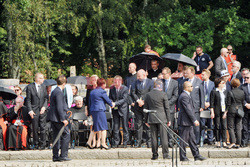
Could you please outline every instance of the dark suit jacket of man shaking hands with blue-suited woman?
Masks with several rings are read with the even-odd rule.
[[[118,111],[112,109],[112,112],[118,112],[120,116],[127,115],[128,113],[128,88],[122,85],[120,91],[117,93],[116,87],[111,86],[109,91],[109,98],[115,102],[115,108],[118,107]]]

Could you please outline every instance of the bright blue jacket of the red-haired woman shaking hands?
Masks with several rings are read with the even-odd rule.
[[[92,90],[90,93],[90,112],[93,111],[106,111],[106,105],[107,103],[109,106],[112,106],[112,102],[109,99],[107,92],[97,87],[96,89]]]

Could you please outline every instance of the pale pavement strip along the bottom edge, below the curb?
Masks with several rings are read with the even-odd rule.
[[[148,160],[148,159],[105,159],[105,160],[72,160],[66,162],[52,162],[51,160],[18,160],[18,161],[0,161],[0,167],[170,167],[171,160]],[[205,161],[188,162],[178,161],[179,167],[246,167],[250,166],[248,158],[233,159],[208,159]]]

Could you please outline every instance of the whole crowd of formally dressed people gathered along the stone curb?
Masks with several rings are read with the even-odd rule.
[[[145,51],[157,53],[149,45],[146,45]],[[43,84],[44,75],[37,73],[35,82],[26,88],[26,97],[22,96],[22,89],[15,86],[12,89],[17,98],[13,101],[2,99],[0,146],[5,150],[45,149],[52,144],[52,140],[49,140],[50,129],[54,129],[53,132],[59,131],[57,123],[64,121],[68,128],[65,128],[67,133],[63,135],[65,142],[61,143],[61,149],[72,145],[73,140],[69,139],[69,134],[75,142],[78,130],[85,128],[89,129],[86,141],[89,149],[146,146],[152,148],[152,160],[155,160],[158,158],[158,146],[161,145],[163,158],[168,159],[168,148],[176,143],[162,123],[189,144],[195,160],[206,159],[199,154],[197,147],[204,144],[227,149],[247,147],[250,139],[249,69],[241,69],[241,63],[233,54],[231,45],[221,49],[214,63],[208,54],[203,53],[201,46],[196,47],[192,59],[197,67],[179,62],[178,70],[174,73],[168,67],[159,69],[158,60],[151,61],[151,69],[148,71],[137,69],[135,63],[130,63],[129,75],[124,79],[115,76],[109,95],[105,90],[105,79],[97,75],[90,77],[86,96],[81,97],[78,95],[78,87],[66,84],[62,77],[57,82],[60,89],[56,85],[46,87]],[[210,79],[213,66],[214,81]],[[58,107],[54,103],[61,98],[66,105]],[[107,105],[111,108],[111,123],[107,121]],[[72,116],[51,116],[48,114],[53,111],[51,108],[66,111],[66,115],[67,111],[71,111]],[[153,110],[156,112],[145,112]],[[79,115],[82,120],[80,122],[76,118]],[[112,134],[109,144],[107,131]],[[180,141],[184,150],[185,142]],[[55,147],[58,152],[60,144],[57,143]],[[68,160],[67,153],[63,156]],[[180,159],[188,160],[182,149]],[[59,160],[58,155],[53,160]]]

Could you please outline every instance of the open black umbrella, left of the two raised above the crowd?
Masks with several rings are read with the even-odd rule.
[[[146,52],[142,52],[132,56],[129,59],[129,63],[135,63],[137,66],[137,71],[140,69],[144,69],[147,71],[151,69],[151,60],[158,60],[160,69],[162,69],[165,65],[165,62],[161,57],[153,53],[146,53]]]

